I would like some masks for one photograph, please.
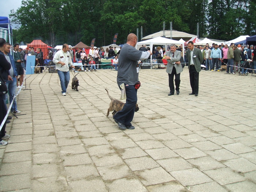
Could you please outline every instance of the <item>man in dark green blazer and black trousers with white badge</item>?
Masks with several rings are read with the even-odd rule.
[[[198,87],[199,87],[199,72],[201,71],[201,63],[203,62],[202,52],[194,47],[192,41],[188,42],[188,70],[189,70],[189,79],[190,85],[192,88],[192,93],[189,95],[198,95]]]

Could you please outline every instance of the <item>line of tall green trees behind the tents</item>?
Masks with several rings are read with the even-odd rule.
[[[126,42],[129,33],[143,27],[143,37],[163,29],[196,34],[199,37],[230,40],[256,34],[255,0],[23,0],[12,10],[14,42],[41,39],[48,45],[109,45]]]

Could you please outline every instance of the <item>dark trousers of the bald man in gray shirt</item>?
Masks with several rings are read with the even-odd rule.
[[[135,105],[137,103],[137,89],[134,85],[125,84],[126,92],[126,103],[121,111],[118,111],[114,115],[114,119],[120,123],[123,123],[125,126],[131,126],[131,122],[135,112]]]

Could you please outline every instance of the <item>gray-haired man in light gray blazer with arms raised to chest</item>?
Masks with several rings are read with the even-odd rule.
[[[183,68],[180,64],[181,52],[176,50],[176,45],[170,45],[170,51],[166,52],[165,59],[167,60],[166,72],[169,75],[169,87],[170,93],[168,95],[174,95],[174,84],[173,76],[175,75],[175,86],[177,95],[180,94],[180,73],[183,71]]]

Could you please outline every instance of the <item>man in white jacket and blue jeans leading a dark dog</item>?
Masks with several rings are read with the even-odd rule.
[[[64,44],[62,49],[55,53],[53,63],[56,64],[56,70],[60,78],[61,93],[63,96],[66,96],[70,79],[68,64],[71,65],[72,68],[75,68],[68,52],[68,44]]]

